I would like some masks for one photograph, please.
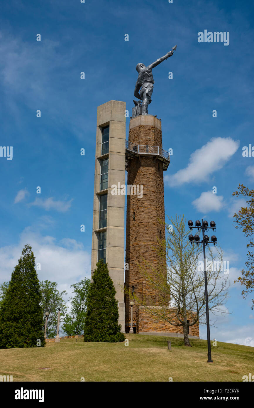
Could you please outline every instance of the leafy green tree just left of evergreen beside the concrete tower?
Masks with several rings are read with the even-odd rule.
[[[71,285],[73,297],[71,301],[71,311],[64,318],[62,329],[68,336],[80,335],[84,330],[84,323],[87,310],[87,294],[90,286],[90,279],[82,279],[81,282]]]

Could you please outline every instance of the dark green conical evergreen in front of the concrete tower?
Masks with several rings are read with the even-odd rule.
[[[84,341],[124,341],[124,333],[120,332],[121,325],[118,324],[116,290],[107,264],[101,259],[96,266],[87,296]]]

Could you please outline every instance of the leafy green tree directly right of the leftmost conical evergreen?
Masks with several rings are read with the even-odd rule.
[[[40,304],[43,310],[43,327],[45,329],[45,313],[48,312],[46,337],[52,339],[57,334],[58,306],[60,306],[60,324],[63,322],[67,310],[66,303],[63,299],[63,296],[66,295],[67,292],[66,290],[59,292],[59,290],[57,290],[57,282],[51,282],[47,279],[40,282],[40,292],[42,294]]]

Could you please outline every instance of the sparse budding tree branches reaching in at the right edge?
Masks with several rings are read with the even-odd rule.
[[[246,201],[246,207],[241,207],[238,213],[234,214],[234,221],[237,225],[236,228],[240,228],[243,231],[245,237],[249,238],[247,248],[254,247],[254,190],[250,190],[248,187],[245,187],[243,184],[239,184],[238,191],[234,191],[232,195],[236,197],[244,197]],[[247,270],[242,269],[241,274],[237,280],[234,281],[240,282],[241,285],[245,286],[245,289],[242,291],[243,299],[247,297],[248,294],[254,291],[254,253],[253,251],[247,252],[247,261],[245,262]],[[252,309],[254,308],[254,299],[252,299]]]

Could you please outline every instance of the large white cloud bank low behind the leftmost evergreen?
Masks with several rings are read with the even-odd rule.
[[[65,243],[68,244],[66,248]],[[0,248],[1,281],[9,281],[11,273],[18,264],[25,244],[32,247],[35,263],[40,262],[37,271],[40,280],[49,279],[58,283],[59,290],[71,290],[69,286],[84,277],[91,276],[91,255],[84,250],[82,243],[65,238],[59,243],[55,237],[38,233],[38,226],[27,227],[20,235],[20,242],[13,246]]]

